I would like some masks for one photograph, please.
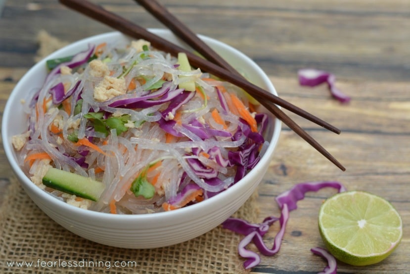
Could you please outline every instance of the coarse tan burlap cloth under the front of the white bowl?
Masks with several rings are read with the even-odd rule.
[[[255,193],[235,216],[255,221],[256,197]],[[138,250],[97,244],[46,216],[12,178],[0,207],[0,273],[240,274],[246,272],[237,254],[240,239],[240,235],[218,226],[195,239],[164,248]],[[53,263],[57,261],[60,267]],[[62,267],[62,261],[76,262],[78,266]],[[84,267],[90,261],[105,265]],[[133,261],[136,265],[114,267],[116,261]],[[33,266],[10,267],[12,262]],[[38,262],[48,266],[38,267]]]

